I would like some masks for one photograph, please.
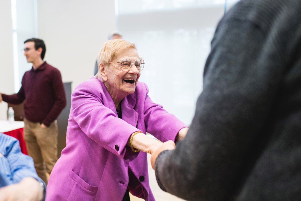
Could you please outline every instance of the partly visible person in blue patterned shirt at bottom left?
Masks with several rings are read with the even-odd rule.
[[[46,185],[14,137],[0,133],[0,201],[40,201]]]

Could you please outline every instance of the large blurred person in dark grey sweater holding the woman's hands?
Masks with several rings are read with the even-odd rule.
[[[221,19],[185,139],[151,156],[161,189],[186,200],[301,200],[300,10],[297,0],[241,0]]]

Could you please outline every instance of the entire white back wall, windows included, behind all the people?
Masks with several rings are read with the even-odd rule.
[[[152,99],[190,124],[202,88],[202,68],[215,25],[223,15],[224,1],[175,1],[173,4],[161,0],[115,1],[120,4],[117,6],[118,28],[113,0],[16,2],[19,53],[16,89],[24,72],[31,68],[20,51],[25,39],[39,37],[45,41],[45,60],[58,68],[63,81],[72,82],[74,89],[93,76],[100,46],[107,40],[108,33],[119,28],[124,39],[136,43],[146,61],[140,80],[149,85]],[[235,2],[237,0],[228,0],[227,10]],[[164,10],[167,4],[171,6]],[[37,21],[34,20],[35,6]],[[16,90],[10,0],[1,1],[0,12],[0,41],[4,47],[0,50],[0,92],[13,94]],[[6,110],[7,104],[2,102],[0,120],[6,119]]]

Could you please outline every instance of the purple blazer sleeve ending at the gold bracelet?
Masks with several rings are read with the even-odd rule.
[[[98,86],[89,80],[74,89],[71,96],[72,116],[89,138],[121,159],[131,157],[132,160],[133,155],[137,156],[138,153],[129,151],[126,143],[130,135],[139,129],[118,118],[113,111],[112,98],[106,97]]]

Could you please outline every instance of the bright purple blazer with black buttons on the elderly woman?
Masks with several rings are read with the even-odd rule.
[[[91,77],[74,89],[66,147],[51,172],[46,201],[121,201],[127,187],[134,196],[155,200],[147,153],[132,152],[126,143],[135,131],[175,140],[186,125],[147,94],[146,84],[138,82],[121,103],[120,119],[102,81]]]

